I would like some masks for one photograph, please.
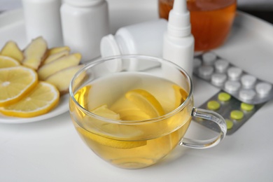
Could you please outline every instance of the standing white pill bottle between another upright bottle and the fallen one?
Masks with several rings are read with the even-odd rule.
[[[108,3],[104,0],[64,0],[61,7],[64,45],[80,52],[82,62],[99,57],[99,43],[109,34]]]

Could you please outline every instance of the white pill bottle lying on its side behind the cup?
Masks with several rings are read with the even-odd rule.
[[[102,57],[141,54],[162,57],[163,34],[167,20],[151,20],[121,27],[115,35],[104,36],[100,49]]]

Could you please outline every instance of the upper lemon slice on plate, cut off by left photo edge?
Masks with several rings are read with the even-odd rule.
[[[38,83],[36,71],[25,66],[0,69],[0,106],[18,102]]]

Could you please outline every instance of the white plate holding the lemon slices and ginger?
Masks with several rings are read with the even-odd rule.
[[[65,113],[66,111],[69,111],[69,94],[65,94],[62,97],[60,97],[59,104],[55,107],[55,109],[52,109],[52,111],[50,111],[49,113],[43,114],[41,116],[36,116],[33,118],[8,117],[0,114],[0,123],[7,124],[31,123],[58,116],[62,113]]]

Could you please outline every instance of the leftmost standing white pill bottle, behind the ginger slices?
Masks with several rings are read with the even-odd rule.
[[[61,0],[22,0],[27,43],[43,36],[49,47],[62,45],[62,26],[59,14]]]

